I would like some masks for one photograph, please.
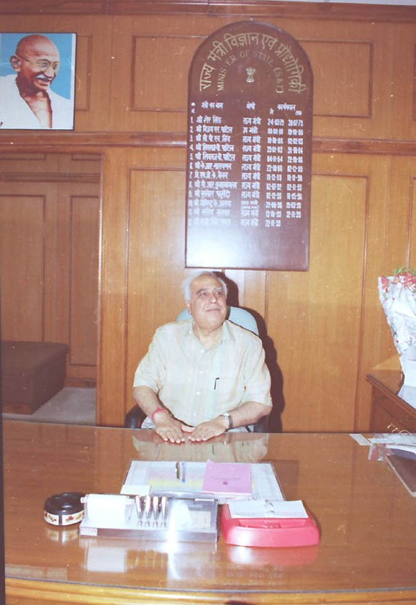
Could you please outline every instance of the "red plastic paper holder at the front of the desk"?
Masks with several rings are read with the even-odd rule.
[[[227,544],[237,546],[310,546],[320,541],[311,515],[292,519],[232,518],[228,504],[221,512],[221,531]]]

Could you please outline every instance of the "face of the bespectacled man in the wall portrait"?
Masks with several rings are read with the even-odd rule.
[[[48,40],[26,44],[13,59],[19,87],[22,85],[27,92],[47,92],[59,69],[55,44]]]

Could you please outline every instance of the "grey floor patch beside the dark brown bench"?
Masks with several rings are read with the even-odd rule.
[[[96,389],[65,387],[33,414],[3,414],[3,418],[37,423],[95,425]]]

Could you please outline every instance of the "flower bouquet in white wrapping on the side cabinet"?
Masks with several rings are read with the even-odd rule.
[[[379,278],[379,298],[400,355],[404,384],[416,386],[416,271]]]

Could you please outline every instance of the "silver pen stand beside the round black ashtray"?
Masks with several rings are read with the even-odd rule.
[[[211,498],[88,494],[80,536],[216,542],[218,504]]]

